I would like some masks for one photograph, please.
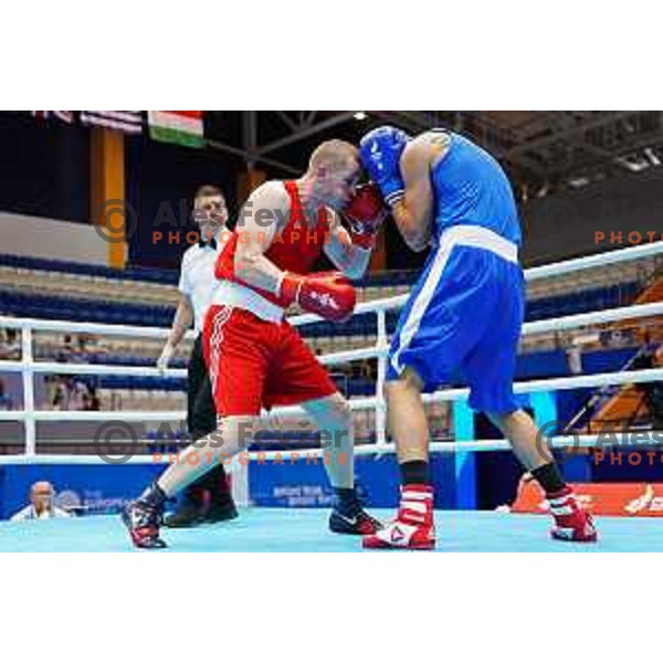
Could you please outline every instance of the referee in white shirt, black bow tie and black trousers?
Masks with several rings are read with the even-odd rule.
[[[194,323],[197,333],[188,366],[187,427],[194,442],[217,429],[217,412],[204,364],[202,326],[215,285],[214,263],[228,222],[228,207],[218,187],[206,185],[196,192],[194,221],[200,227],[200,241],[185,252],[180,269],[180,299],[168,340],[157,367],[166,370],[187,329]],[[165,520],[167,527],[194,527],[236,518],[223,464],[219,463],[191,484],[177,511]]]

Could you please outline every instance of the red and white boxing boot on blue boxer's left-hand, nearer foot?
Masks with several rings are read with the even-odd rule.
[[[432,550],[435,547],[433,488],[411,484],[401,487],[396,519],[362,539],[365,548]]]

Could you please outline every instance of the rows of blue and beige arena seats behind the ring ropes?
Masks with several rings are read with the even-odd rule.
[[[580,275],[536,282],[529,287],[527,319],[544,319],[596,311],[633,302],[644,281],[651,277],[653,263],[627,263],[610,271],[596,270]],[[417,274],[394,272],[373,274],[359,284],[359,301],[372,301],[406,293]],[[0,255],[0,315],[139,326],[168,327],[177,302],[177,273],[161,270],[115,270]],[[387,316],[392,332],[397,312]],[[375,343],[376,317],[355,316],[344,325],[307,325],[304,335],[318,352],[365,347]],[[161,347],[158,339],[107,337],[91,341],[90,351],[76,351],[69,361],[154,367]],[[186,366],[189,346],[180,349],[172,367]],[[62,335],[40,333],[35,336],[39,359],[54,359],[62,350]],[[634,352],[635,349],[625,349]],[[518,379],[568,375],[567,357],[554,334],[526,339],[518,359]],[[617,354],[587,352],[585,370],[597,372],[619,368],[623,357]],[[599,358],[601,357],[601,358]],[[104,409],[183,409],[186,381],[152,377],[86,376],[83,381],[97,389]],[[375,381],[356,375],[337,377],[348,397],[369,396]],[[368,424],[367,424],[368,427]]]

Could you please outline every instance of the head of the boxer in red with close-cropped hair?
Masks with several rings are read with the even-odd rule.
[[[325,140],[311,155],[305,179],[323,204],[343,209],[359,180],[359,150],[345,140]]]

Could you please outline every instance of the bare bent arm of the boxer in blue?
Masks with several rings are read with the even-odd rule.
[[[401,157],[400,167],[406,196],[392,209],[396,224],[412,251],[423,251],[429,243],[433,217],[433,189],[430,168],[439,149],[425,141],[410,143]]]

